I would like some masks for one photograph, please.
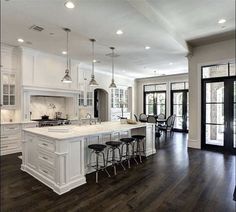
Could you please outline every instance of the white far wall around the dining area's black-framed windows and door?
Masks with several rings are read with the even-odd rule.
[[[157,76],[149,78],[140,78],[135,80],[135,114],[140,114],[144,112],[143,102],[143,86],[149,84],[161,84],[166,83],[166,115],[170,115],[170,86],[173,82],[188,82],[188,74],[176,74],[169,76]]]

